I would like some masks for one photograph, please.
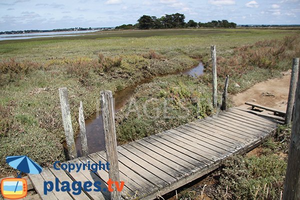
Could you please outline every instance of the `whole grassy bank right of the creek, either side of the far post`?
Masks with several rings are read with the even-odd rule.
[[[281,71],[291,67],[292,57],[299,54],[300,38],[289,36],[235,48],[230,56],[219,55],[218,90],[223,90],[227,74],[230,76],[228,92],[231,94],[268,78],[279,77]],[[202,76],[156,78],[152,83],[136,89],[132,102],[128,102],[118,113],[118,139],[123,142],[135,140],[211,114],[214,111],[210,107],[211,63],[207,57],[203,57],[203,61],[206,63],[206,73]],[[168,111],[163,109],[165,99],[171,105]],[[193,102],[191,99],[197,100]],[[144,114],[145,107],[149,107],[150,114]],[[170,112],[171,117],[165,117],[163,111]],[[185,117],[180,117],[184,111]]]

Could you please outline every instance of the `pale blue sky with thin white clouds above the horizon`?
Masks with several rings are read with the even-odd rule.
[[[300,0],[0,0],[0,31],[111,27],[176,12],[185,21],[300,24]]]

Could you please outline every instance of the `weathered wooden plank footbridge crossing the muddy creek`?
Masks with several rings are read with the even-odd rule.
[[[278,121],[249,113],[243,107],[230,108],[164,132],[117,147],[120,180],[125,181],[123,198],[154,199],[220,166],[222,160],[259,145]],[[106,161],[105,151],[68,162]],[[43,194],[43,181],[58,177],[61,181],[101,181],[107,188],[107,170],[67,172],[53,167],[40,174],[28,174],[42,199],[109,199],[109,192],[49,192]],[[93,187],[91,187],[93,188]]]

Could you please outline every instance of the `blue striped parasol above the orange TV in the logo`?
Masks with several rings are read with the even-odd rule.
[[[42,168],[26,155],[7,156],[6,162],[9,166],[24,173],[38,174]]]

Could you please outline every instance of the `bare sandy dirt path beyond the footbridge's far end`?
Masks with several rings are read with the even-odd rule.
[[[246,101],[252,101],[260,105],[274,107],[285,111],[290,71],[283,72],[282,78],[269,79],[253,85],[244,92],[231,95],[231,99],[235,105],[241,105]]]

